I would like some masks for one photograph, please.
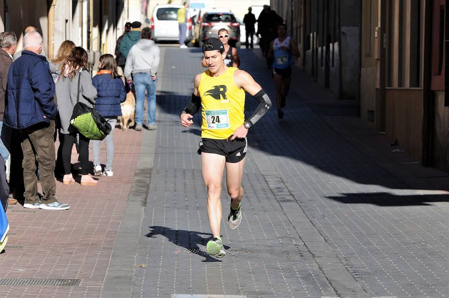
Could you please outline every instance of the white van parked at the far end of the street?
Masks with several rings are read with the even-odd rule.
[[[152,39],[154,41],[178,41],[178,9],[183,5],[156,5],[151,16]],[[187,13],[186,43],[192,40],[192,18]]]

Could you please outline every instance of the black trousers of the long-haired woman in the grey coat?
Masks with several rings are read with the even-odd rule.
[[[64,169],[64,174],[71,173],[70,158],[72,155],[73,144],[76,143],[76,134],[63,134],[62,138],[62,167]],[[81,175],[87,175],[89,173],[89,139],[79,134],[79,162],[81,163]]]

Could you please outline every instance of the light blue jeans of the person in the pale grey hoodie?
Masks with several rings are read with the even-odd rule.
[[[145,111],[145,90],[148,93],[148,125],[156,123],[156,86],[158,79],[152,80],[149,73],[138,72],[133,75],[136,90],[136,125],[142,125]]]

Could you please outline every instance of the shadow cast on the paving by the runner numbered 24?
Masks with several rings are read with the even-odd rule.
[[[202,233],[196,231],[186,231],[186,230],[175,230],[167,227],[161,226],[152,226],[150,227],[151,232],[148,233],[148,238],[154,238],[157,235],[162,235],[166,237],[170,242],[186,249],[187,251],[205,257],[206,259],[202,262],[222,262],[221,260],[217,260],[207,252],[202,250],[199,245],[206,246],[207,241],[212,236],[211,233]],[[202,235],[207,236],[207,238],[202,237]],[[229,247],[225,246],[225,249]],[[186,250],[177,250],[176,253],[185,253]]]

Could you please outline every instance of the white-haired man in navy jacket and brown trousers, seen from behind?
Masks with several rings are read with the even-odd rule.
[[[23,182],[25,208],[65,210],[56,197],[54,178],[54,118],[57,114],[54,83],[42,51],[42,37],[37,31],[23,38],[24,51],[8,71],[7,101],[3,122],[20,130],[23,151]],[[36,162],[39,162],[43,196],[37,195]]]

